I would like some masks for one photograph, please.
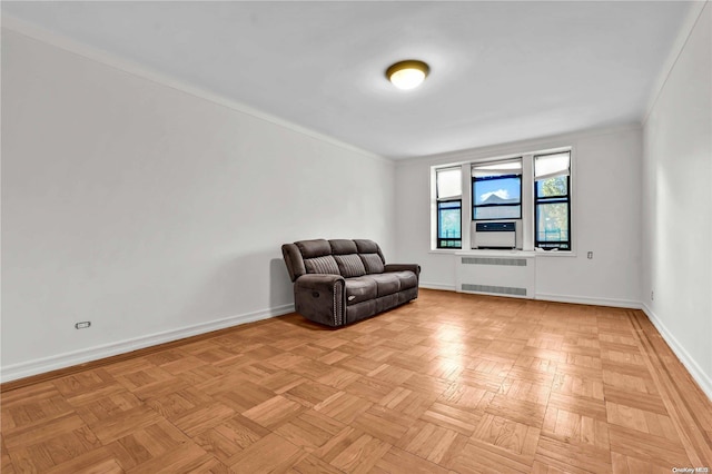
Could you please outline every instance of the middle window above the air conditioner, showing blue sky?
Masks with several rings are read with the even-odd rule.
[[[522,218],[522,159],[473,165],[473,220]]]

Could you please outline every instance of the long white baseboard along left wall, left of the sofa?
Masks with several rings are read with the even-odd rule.
[[[28,361],[0,368],[0,383],[30,377],[32,375],[43,374],[60,368],[71,367],[75,365],[85,364],[87,362],[98,361],[119,354],[126,354],[158,344],[170,343],[174,340],[184,339],[186,337],[197,336],[199,334],[210,333],[212,330],[225,329],[227,327],[237,326],[245,323],[254,323],[256,320],[267,319],[293,312],[294,304],[280,305],[259,312],[246,313],[238,316],[230,316],[208,323],[186,326],[179,329],[155,333],[134,339],[105,344],[101,346],[89,347],[81,350],[73,350],[52,357]]]

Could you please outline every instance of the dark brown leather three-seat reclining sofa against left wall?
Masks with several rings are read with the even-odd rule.
[[[373,240],[300,240],[281,246],[295,309],[338,327],[418,297],[419,265],[386,265]]]

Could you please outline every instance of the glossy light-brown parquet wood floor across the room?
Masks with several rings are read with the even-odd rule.
[[[7,388],[7,386],[6,386]],[[712,406],[636,310],[423,290],[2,394],[2,473],[712,467]]]

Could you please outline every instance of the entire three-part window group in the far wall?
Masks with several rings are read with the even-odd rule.
[[[432,166],[431,249],[484,248],[483,226],[514,221],[516,249],[575,256],[573,155],[561,146]]]

